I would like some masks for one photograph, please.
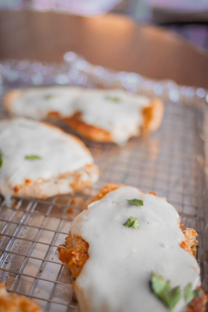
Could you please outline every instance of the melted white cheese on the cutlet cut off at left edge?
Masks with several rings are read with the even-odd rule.
[[[4,196],[12,195],[13,188],[24,185],[26,179],[47,181],[93,163],[89,151],[74,137],[54,126],[23,118],[0,122],[0,149],[0,189]],[[31,155],[41,159],[25,158]],[[62,184],[62,188],[67,187]]]

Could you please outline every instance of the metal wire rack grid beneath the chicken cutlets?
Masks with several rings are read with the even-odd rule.
[[[66,128],[67,129],[67,128]],[[47,200],[19,199],[0,205],[0,281],[27,295],[44,311],[78,311],[69,269],[58,259],[71,220],[104,183],[124,183],[167,197],[184,227],[198,228],[199,137],[196,110],[166,103],[161,128],[150,137],[131,139],[127,146],[84,139],[101,177],[92,189]],[[200,264],[198,247],[197,261]],[[203,270],[202,270],[203,271]]]

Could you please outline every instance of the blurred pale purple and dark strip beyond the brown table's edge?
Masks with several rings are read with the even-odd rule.
[[[207,0],[1,0],[1,9],[21,7],[57,10],[80,15],[116,12],[139,22],[170,28],[181,36],[208,49]]]

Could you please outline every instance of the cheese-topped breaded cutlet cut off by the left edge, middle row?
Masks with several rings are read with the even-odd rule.
[[[90,187],[98,167],[83,142],[43,122],[0,122],[0,191],[5,197],[46,198]]]

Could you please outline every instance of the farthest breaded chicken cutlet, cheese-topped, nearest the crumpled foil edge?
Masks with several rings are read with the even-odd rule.
[[[89,139],[117,144],[157,130],[163,117],[161,100],[131,95],[122,89],[14,89],[4,96],[4,105],[13,115],[62,119]]]

